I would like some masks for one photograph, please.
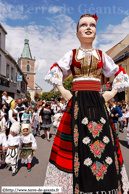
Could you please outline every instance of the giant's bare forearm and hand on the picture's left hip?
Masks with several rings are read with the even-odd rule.
[[[69,101],[72,98],[72,94],[69,90],[66,90],[62,85],[56,85],[57,89],[61,93],[64,100]]]

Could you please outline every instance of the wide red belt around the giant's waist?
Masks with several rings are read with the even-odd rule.
[[[82,80],[73,82],[73,91],[98,91],[101,90],[100,81]]]

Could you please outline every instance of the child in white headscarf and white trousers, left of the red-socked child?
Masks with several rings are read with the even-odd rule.
[[[10,134],[7,140],[8,149],[5,160],[7,164],[11,164],[12,176],[15,176],[18,172],[19,150],[21,149],[19,133],[20,133],[20,123],[16,121],[12,124],[10,128]]]

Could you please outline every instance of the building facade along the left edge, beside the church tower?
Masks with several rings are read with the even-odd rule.
[[[16,60],[5,49],[6,30],[0,24],[0,98],[3,91],[14,99],[24,98],[27,94],[27,80]],[[22,81],[17,81],[17,75]]]

